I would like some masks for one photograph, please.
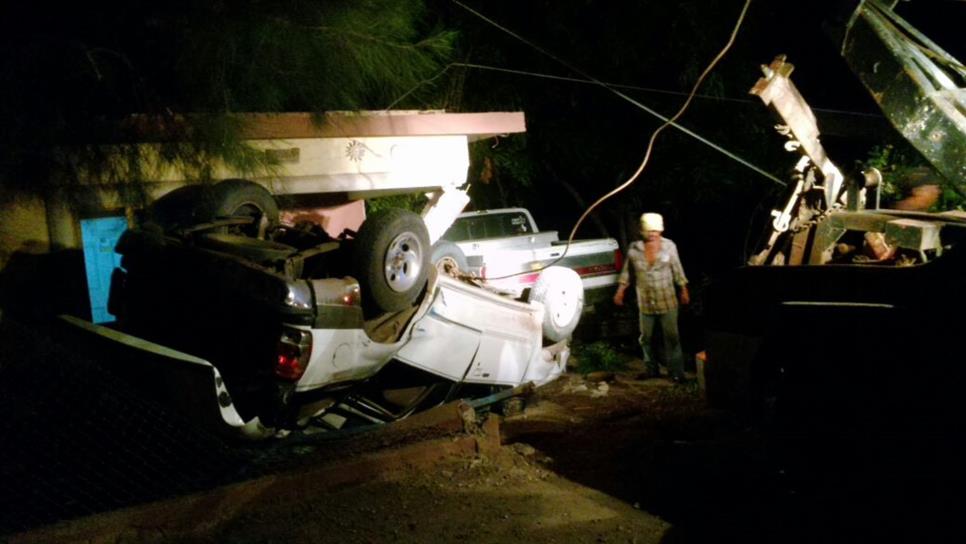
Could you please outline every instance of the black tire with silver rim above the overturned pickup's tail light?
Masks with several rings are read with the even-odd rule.
[[[353,247],[363,301],[383,312],[403,310],[426,284],[429,232],[413,212],[390,208],[366,219]]]

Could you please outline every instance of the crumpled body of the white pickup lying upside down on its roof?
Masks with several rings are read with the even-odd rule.
[[[426,244],[418,227],[398,236]],[[336,248],[309,255],[329,243],[300,249],[209,231],[128,231],[118,247],[123,270],[115,274],[111,309],[124,332],[214,365],[230,395],[222,404],[232,404],[249,428],[292,428],[333,409],[342,418],[348,410],[386,421],[458,388],[472,394],[468,385],[486,386],[471,388],[476,393],[539,385],[564,370],[567,342],[544,346],[541,331],[546,316],[579,313],[576,274],[557,279],[544,300],[513,300],[435,274],[417,243],[403,250],[413,259],[415,299],[366,316],[356,279],[320,277],[327,267],[316,265],[345,259]],[[571,272],[546,272],[555,271]],[[392,378],[377,378],[383,371]]]

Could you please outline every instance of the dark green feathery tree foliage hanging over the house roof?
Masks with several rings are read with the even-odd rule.
[[[58,147],[137,140],[117,130],[131,114],[178,142],[161,160],[198,162],[200,178],[212,158],[264,166],[232,114],[385,107],[438,71],[454,39],[420,0],[41,0],[0,10],[0,184],[21,188],[45,186]],[[137,166],[143,157],[127,151]],[[113,167],[91,148],[74,160]]]

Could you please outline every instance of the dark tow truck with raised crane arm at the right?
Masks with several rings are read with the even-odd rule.
[[[860,2],[841,54],[945,187],[961,192],[966,68],[893,7]],[[709,291],[708,400],[792,427],[928,432],[956,422],[966,214],[877,207],[880,173],[833,162],[792,70],[780,56],[751,90],[798,159],[765,246]]]

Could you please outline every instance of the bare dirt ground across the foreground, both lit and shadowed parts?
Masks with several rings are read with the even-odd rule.
[[[922,541],[960,526],[966,479],[938,468],[961,464],[962,448],[950,450],[948,437],[766,436],[707,409],[697,384],[642,381],[640,371],[636,361],[626,372],[568,373],[537,389],[522,412],[489,416],[502,417],[502,446],[482,454],[419,465],[428,469],[402,463],[325,489],[285,484],[297,490],[216,495],[235,504],[207,504],[230,515],[212,515],[202,503],[199,525],[187,533],[147,522],[98,541]],[[302,470],[408,447],[378,436],[338,447],[286,439],[272,455],[289,467],[288,478],[307,481]]]

